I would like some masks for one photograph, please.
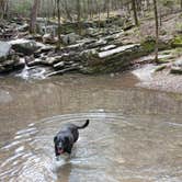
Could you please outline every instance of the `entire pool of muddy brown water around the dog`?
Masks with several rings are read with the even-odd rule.
[[[132,75],[0,78],[0,181],[181,182],[182,94],[135,87]],[[70,159],[53,137],[80,130]]]

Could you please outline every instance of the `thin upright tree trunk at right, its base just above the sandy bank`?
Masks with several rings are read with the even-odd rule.
[[[155,60],[158,62],[158,44],[159,44],[159,22],[158,22],[158,9],[157,1],[153,0],[155,21],[156,21],[156,48],[155,48]]]

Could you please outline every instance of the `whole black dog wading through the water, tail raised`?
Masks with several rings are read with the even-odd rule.
[[[77,126],[75,124],[66,125],[55,137],[55,155],[60,156],[61,153],[71,153],[73,144],[79,138],[78,129],[82,129],[89,125],[89,120],[82,126]]]

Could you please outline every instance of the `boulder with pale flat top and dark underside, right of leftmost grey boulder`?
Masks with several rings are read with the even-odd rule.
[[[34,52],[42,47],[41,44],[36,43],[35,41],[23,38],[10,41],[9,44],[12,45],[12,48],[15,52],[22,53],[24,55],[32,55]]]

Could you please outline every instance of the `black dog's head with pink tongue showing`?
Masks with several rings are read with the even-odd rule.
[[[56,156],[60,156],[64,152],[67,151],[67,143],[68,143],[68,138],[67,137],[62,137],[62,136],[55,136],[54,137],[54,143],[55,143],[55,155]]]

